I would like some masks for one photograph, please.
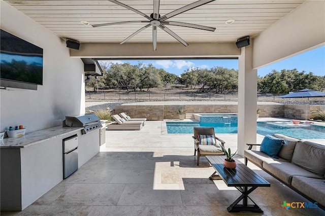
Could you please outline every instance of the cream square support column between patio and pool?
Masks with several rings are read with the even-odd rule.
[[[241,48],[238,70],[238,154],[256,143],[257,70],[252,69],[253,47]]]

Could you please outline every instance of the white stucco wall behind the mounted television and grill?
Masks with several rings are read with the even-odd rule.
[[[62,124],[66,115],[84,113],[83,63],[71,58],[65,41],[1,3],[1,29],[43,48],[43,85],[38,90],[0,90],[0,130],[23,125],[35,131]]]

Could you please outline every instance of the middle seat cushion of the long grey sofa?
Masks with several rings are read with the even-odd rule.
[[[291,180],[293,176],[305,176],[305,177],[313,177],[313,178],[321,178],[319,175],[316,175],[302,167],[299,167],[290,162],[283,161],[270,161],[265,160],[263,162],[263,168],[272,173],[274,176],[279,178],[286,184],[291,184]]]

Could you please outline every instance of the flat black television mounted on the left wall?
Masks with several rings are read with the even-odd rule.
[[[43,85],[43,49],[0,29],[0,86]]]

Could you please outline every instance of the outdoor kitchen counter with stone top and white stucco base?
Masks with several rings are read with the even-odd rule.
[[[78,136],[78,168],[98,154],[101,130],[83,129],[56,126],[0,140],[0,210],[21,211],[63,180],[63,139]]]

